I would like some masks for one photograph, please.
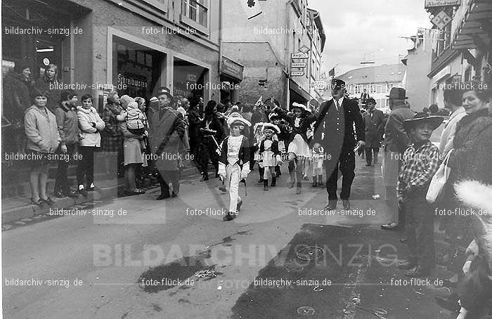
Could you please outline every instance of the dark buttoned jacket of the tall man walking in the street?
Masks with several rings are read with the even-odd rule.
[[[365,141],[365,125],[357,101],[344,98],[338,112],[333,99],[321,104],[313,141],[321,143],[325,153],[335,160],[354,153],[356,141]]]

